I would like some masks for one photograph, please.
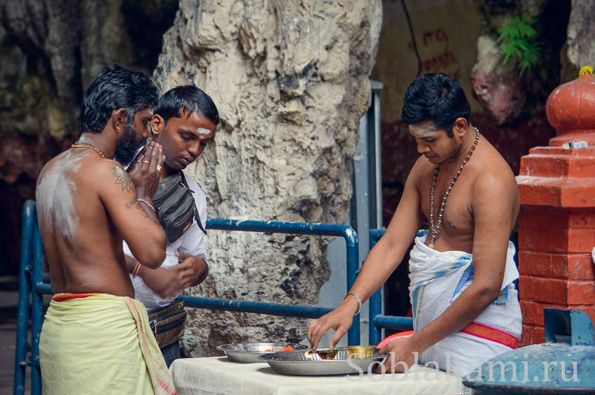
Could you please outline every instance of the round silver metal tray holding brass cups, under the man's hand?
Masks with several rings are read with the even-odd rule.
[[[367,373],[367,368],[372,362],[384,361],[387,357],[386,355],[376,354],[371,358],[348,359],[347,352],[344,349],[337,352],[335,359],[321,359],[316,353],[310,355],[311,359],[308,359],[306,352],[296,350],[265,354],[258,357],[258,359],[267,361],[276,373],[283,375],[323,376],[360,373],[358,368],[363,373]]]

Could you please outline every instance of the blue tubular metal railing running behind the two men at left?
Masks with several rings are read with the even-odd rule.
[[[207,229],[342,237],[346,243],[347,289],[350,289],[356,280],[356,272],[359,268],[358,236],[349,226],[212,219],[207,221]],[[43,323],[43,294],[51,294],[52,290],[48,282],[43,282],[44,277],[47,281],[48,274],[43,273],[43,245],[37,226],[34,201],[27,201],[23,208],[20,263],[14,394],[20,395],[25,393],[25,372],[27,366],[31,366],[31,393],[41,394],[39,335]],[[31,296],[31,343],[27,342],[29,295]],[[202,296],[183,295],[181,299],[186,302],[186,306],[188,307],[281,315],[286,317],[318,318],[332,311],[332,308],[282,305],[260,301],[238,301],[235,299],[216,299]],[[360,344],[360,322],[358,318],[353,318],[353,324],[351,325],[351,329],[349,329],[349,345]],[[31,351],[31,357],[27,359],[27,351],[29,349]]]

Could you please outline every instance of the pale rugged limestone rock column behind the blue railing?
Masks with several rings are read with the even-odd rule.
[[[211,217],[342,223],[369,101],[381,1],[182,0],[154,77],[195,84],[221,114],[190,168]],[[188,294],[312,305],[330,238],[209,231],[211,276]],[[307,320],[194,310],[186,354],[302,340]]]

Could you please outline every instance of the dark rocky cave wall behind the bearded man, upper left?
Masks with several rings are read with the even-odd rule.
[[[17,275],[22,205],[79,134],[83,92],[114,63],[151,73],[177,0],[0,2],[0,275]]]

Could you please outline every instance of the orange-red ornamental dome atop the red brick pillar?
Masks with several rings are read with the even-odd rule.
[[[549,94],[546,114],[549,124],[558,131],[549,145],[562,145],[566,141],[595,144],[595,77],[591,66],[584,66],[576,80],[560,85]]]

